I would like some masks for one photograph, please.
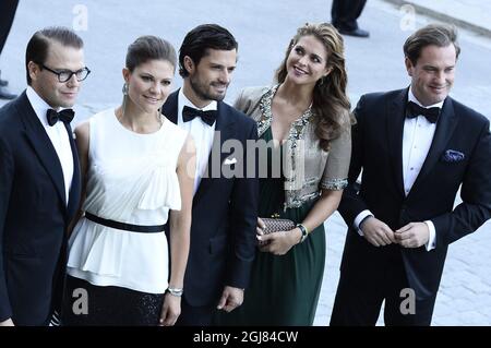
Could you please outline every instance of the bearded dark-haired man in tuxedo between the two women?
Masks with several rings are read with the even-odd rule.
[[[258,129],[221,101],[237,48],[233,36],[215,24],[188,33],[179,51],[183,87],[163,107],[196,144],[191,247],[176,325],[211,325],[216,308],[239,307],[255,255],[259,187],[255,170],[251,175],[247,166],[252,155],[247,142],[258,140]],[[179,296],[175,290],[170,293]]]

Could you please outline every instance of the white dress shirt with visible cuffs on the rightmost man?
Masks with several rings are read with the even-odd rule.
[[[409,88],[408,101],[414,101],[423,108],[442,108],[443,101],[440,101],[428,107],[421,105],[419,100],[412,94]],[[418,175],[427,159],[428,153],[433,141],[434,132],[436,130],[436,123],[431,123],[424,116],[418,116],[416,118],[406,118],[404,121],[403,131],[403,179],[404,179],[404,193],[407,196],[411,191]],[[370,211],[363,211],[355,218],[355,228],[360,236],[363,232],[360,229],[360,223],[367,217],[373,216]],[[430,237],[426,244],[427,251],[435,248],[436,231],[432,221],[424,221],[430,230]]]

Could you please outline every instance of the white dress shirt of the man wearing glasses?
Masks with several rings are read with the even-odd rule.
[[[65,204],[68,205],[70,187],[72,185],[73,179],[73,155],[72,148],[70,147],[70,140],[67,129],[63,122],[58,121],[55,125],[49,125],[48,119],[46,118],[46,112],[48,109],[52,109],[33,87],[27,86],[26,91],[27,99],[31,103],[34,111],[36,112],[39,122],[41,122],[45,128],[46,133],[51,141],[52,146],[58,155],[58,159],[61,164],[61,169],[63,171],[63,183],[64,183],[64,194]],[[58,109],[57,111],[60,111]]]

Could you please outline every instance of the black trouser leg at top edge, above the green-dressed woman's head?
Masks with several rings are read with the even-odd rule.
[[[331,8],[333,25],[340,31],[357,29],[357,19],[366,3],[367,0],[333,0],[333,7]]]

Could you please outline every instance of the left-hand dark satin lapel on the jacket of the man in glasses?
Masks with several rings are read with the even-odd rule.
[[[65,202],[64,179],[60,159],[58,158],[57,152],[55,151],[46,130],[36,117],[25,93],[22,95],[22,98],[24,98],[24,100],[22,100],[19,106],[27,140],[31,142],[34,152],[49,173],[61,201]]]

